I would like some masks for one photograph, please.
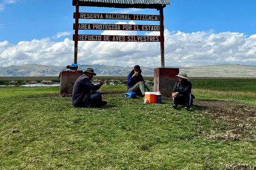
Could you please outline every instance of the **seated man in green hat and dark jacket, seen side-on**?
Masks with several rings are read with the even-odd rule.
[[[73,88],[72,104],[77,107],[101,107],[106,105],[107,101],[102,101],[100,92],[97,91],[105,82],[93,84],[93,76],[96,75],[93,69],[87,68],[76,80]]]

